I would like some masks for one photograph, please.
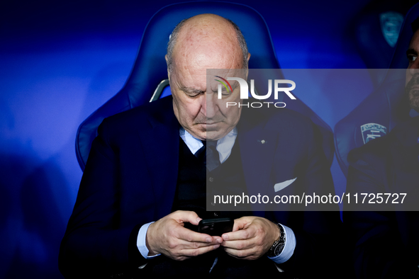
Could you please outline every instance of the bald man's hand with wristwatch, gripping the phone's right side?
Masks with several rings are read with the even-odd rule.
[[[261,218],[245,216],[234,220],[233,232],[223,234],[224,250],[235,258],[256,260],[279,239],[276,224]]]

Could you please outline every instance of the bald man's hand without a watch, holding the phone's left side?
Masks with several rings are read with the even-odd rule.
[[[192,211],[176,211],[150,224],[146,244],[149,255],[164,254],[177,261],[217,249],[221,237],[211,237],[184,228],[184,222],[197,225],[201,218]]]

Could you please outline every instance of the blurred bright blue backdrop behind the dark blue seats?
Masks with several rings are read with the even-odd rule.
[[[0,4],[0,278],[60,278],[82,171],[77,127],[123,86],[153,13],[173,1]],[[369,1],[242,1],[267,21],[282,68],[365,68],[353,21]],[[372,90],[301,99],[330,127]],[[345,187],[336,162],[337,188]]]

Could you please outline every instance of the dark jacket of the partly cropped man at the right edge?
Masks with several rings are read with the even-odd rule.
[[[417,117],[348,156],[347,193],[407,193],[403,204],[354,205],[368,212],[344,206],[359,278],[419,278],[418,137]]]

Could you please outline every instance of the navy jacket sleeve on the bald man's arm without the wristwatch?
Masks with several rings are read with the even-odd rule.
[[[106,120],[98,133],[60,246],[59,268],[66,278],[107,278],[146,261],[136,247],[141,224],[119,224],[118,158]]]

